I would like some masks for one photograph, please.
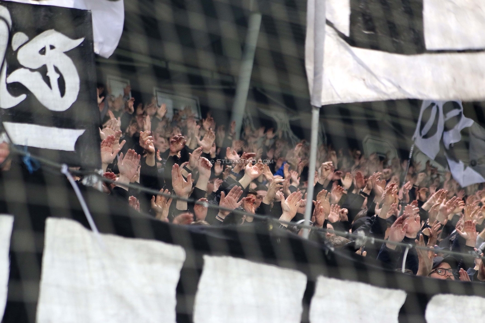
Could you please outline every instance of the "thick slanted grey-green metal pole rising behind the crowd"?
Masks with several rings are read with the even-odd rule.
[[[261,13],[252,12],[249,15],[243,58],[241,60],[241,69],[239,71],[236,95],[234,97],[233,114],[231,116],[231,121],[236,121],[235,139],[237,140],[239,140],[241,135],[241,127],[243,126],[243,116],[246,109],[247,93],[249,91],[249,83],[251,81],[252,66],[254,64],[254,54],[256,52],[257,38],[260,27]]]

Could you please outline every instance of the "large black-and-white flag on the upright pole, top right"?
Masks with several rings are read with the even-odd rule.
[[[314,106],[485,98],[482,0],[309,0],[307,10]]]

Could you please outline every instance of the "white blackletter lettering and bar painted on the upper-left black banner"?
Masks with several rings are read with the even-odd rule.
[[[46,30],[29,41],[27,35],[17,32],[12,37],[12,49],[17,51],[17,60],[24,68],[19,68],[9,76],[6,75],[7,62],[5,54],[11,29],[11,17],[8,10],[0,6],[0,108],[9,109],[27,97],[21,94],[12,96],[7,90],[7,83],[19,82],[24,85],[37,100],[51,111],[66,111],[76,102],[80,90],[79,74],[76,66],[65,52],[78,47],[84,38],[73,40],[53,29]],[[49,83],[44,81],[42,75],[36,71],[47,68]],[[64,80],[64,93],[59,88],[59,79]],[[32,125],[34,126],[34,125]],[[10,123],[9,136],[16,145],[27,145],[37,148],[74,151],[74,144],[84,130],[59,129],[43,126],[42,132],[27,133],[25,124]],[[65,135],[66,144],[49,147],[45,144],[54,138],[59,130]],[[23,133],[21,137],[17,133]]]

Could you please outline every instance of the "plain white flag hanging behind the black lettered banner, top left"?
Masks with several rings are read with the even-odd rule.
[[[123,0],[7,0],[21,3],[55,5],[91,10],[94,52],[110,57],[123,33],[125,8]]]

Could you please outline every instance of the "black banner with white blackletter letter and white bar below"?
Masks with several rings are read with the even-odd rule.
[[[1,121],[11,141],[98,167],[91,13],[0,1],[0,62]]]

